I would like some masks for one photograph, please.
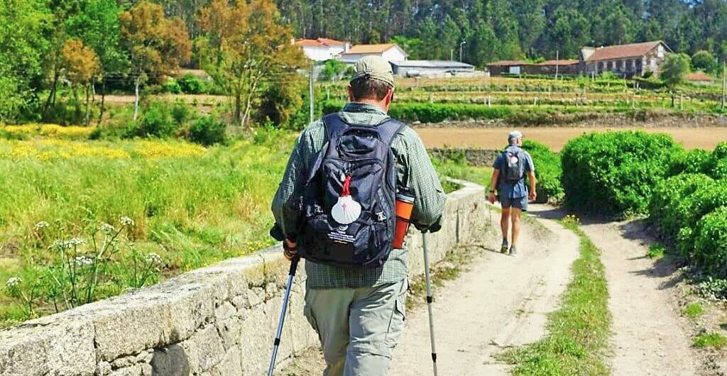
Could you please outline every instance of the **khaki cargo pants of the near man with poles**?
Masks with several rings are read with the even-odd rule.
[[[305,293],[305,317],[323,346],[324,376],[384,376],[401,337],[406,279]]]

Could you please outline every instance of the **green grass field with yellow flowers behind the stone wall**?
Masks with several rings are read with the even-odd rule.
[[[0,140],[0,327],[28,319],[5,282],[37,280],[60,256],[55,240],[81,237],[121,216],[135,222],[137,251],[158,253],[170,277],[271,245],[270,200],[296,135],[259,131],[230,146],[178,141]],[[35,224],[49,224],[43,234]],[[129,257],[116,256],[95,299],[129,287]],[[44,286],[49,287],[49,286]],[[55,312],[36,302],[36,315]]]

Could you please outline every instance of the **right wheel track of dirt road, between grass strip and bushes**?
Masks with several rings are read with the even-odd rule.
[[[614,376],[703,375],[675,303],[671,271],[645,257],[648,237],[638,224],[584,224],[603,253],[614,317]]]

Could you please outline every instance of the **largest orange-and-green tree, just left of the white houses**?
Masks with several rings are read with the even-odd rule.
[[[198,21],[206,33],[199,45],[204,69],[232,97],[234,116],[245,126],[265,85],[286,84],[305,58],[272,0],[212,0]]]

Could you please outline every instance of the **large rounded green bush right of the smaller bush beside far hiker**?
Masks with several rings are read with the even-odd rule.
[[[656,184],[681,148],[665,134],[584,134],[561,152],[566,204],[607,215],[646,213]]]

